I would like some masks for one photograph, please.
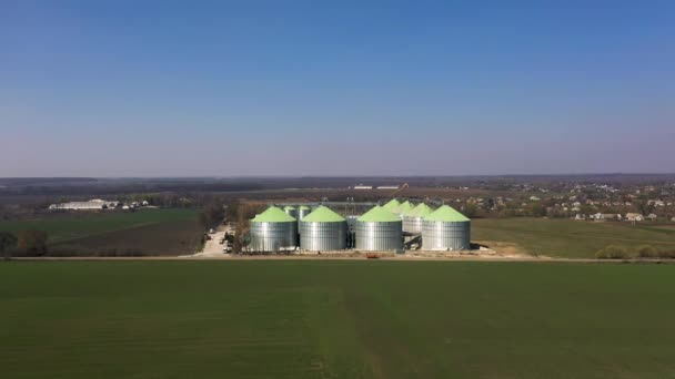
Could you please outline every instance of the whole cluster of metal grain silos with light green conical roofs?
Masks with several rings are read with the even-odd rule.
[[[346,212],[346,211],[345,211]],[[343,216],[325,205],[269,207],[251,219],[252,252],[397,252],[466,250],[471,248],[471,221],[443,205],[433,211],[421,203],[396,199],[375,205],[364,214]]]

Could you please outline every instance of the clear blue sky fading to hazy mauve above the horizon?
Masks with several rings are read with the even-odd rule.
[[[675,172],[675,1],[0,1],[0,176]]]

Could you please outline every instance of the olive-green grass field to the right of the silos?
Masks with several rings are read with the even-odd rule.
[[[472,222],[473,240],[508,242],[524,252],[553,257],[593,258],[607,245],[675,249],[675,229],[649,224],[573,219],[483,218]]]

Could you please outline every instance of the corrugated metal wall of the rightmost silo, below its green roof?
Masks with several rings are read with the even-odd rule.
[[[425,250],[469,250],[471,222],[422,222],[422,248]]]

